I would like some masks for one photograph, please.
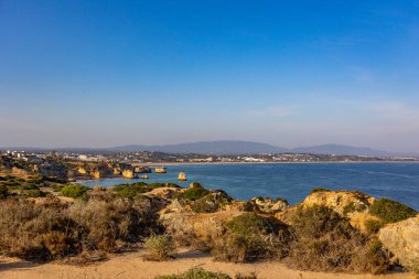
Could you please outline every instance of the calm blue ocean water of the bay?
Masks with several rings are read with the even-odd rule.
[[[194,164],[168,165],[168,173],[149,173],[147,183],[173,182],[187,186],[201,182],[229,195],[283,197],[297,204],[314,187],[357,190],[376,197],[388,197],[419,211],[419,163],[284,163],[284,164]],[[187,181],[179,182],[179,172]],[[104,179],[79,181],[94,186],[111,186],[142,180]]]

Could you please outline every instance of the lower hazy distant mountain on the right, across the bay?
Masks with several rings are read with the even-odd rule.
[[[291,149],[296,153],[313,153],[313,154],[336,154],[336,155],[369,155],[369,157],[391,157],[393,153],[376,150],[372,148],[357,148],[341,144],[323,144],[314,147],[302,147]]]

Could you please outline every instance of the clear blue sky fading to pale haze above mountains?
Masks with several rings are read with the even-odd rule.
[[[419,1],[0,0],[0,147],[419,151]]]

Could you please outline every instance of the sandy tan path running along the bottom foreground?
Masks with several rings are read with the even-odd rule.
[[[412,273],[396,273],[386,276],[370,275],[342,275],[316,273],[291,270],[279,262],[260,264],[226,264],[214,262],[212,258],[202,253],[184,251],[178,259],[165,262],[151,262],[141,259],[142,253],[114,256],[107,261],[90,266],[71,266],[60,262],[34,265],[11,258],[0,257],[0,279],[115,279],[138,278],[152,279],[158,275],[183,272],[192,267],[202,267],[207,270],[229,273],[253,272],[259,279],[415,279]]]

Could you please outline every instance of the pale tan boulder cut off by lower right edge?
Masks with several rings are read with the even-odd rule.
[[[378,237],[402,266],[419,268],[419,215],[387,225]]]

